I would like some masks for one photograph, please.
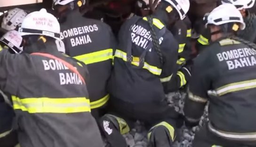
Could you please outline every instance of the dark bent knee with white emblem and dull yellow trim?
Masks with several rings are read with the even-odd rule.
[[[126,134],[130,131],[130,128],[126,121],[122,118],[116,117],[114,115],[106,114],[100,119],[100,123],[103,126],[105,132],[110,133],[111,130],[108,129],[109,124],[112,123],[116,130],[121,134]],[[101,126],[101,127],[102,127]]]

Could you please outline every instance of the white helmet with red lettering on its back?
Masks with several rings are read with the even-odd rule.
[[[46,9],[30,13],[24,18],[19,28],[21,36],[44,35],[60,39],[60,24],[57,18]]]

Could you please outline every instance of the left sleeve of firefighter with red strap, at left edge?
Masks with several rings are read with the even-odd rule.
[[[0,51],[0,89],[11,93],[17,91],[19,83],[19,69],[22,64],[22,55],[10,54],[8,50]]]

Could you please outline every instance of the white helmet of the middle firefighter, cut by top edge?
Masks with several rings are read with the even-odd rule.
[[[179,13],[180,19],[183,20],[190,7],[189,0],[162,0],[170,3]]]

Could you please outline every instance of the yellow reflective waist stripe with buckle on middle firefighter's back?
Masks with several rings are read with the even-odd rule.
[[[123,59],[124,61],[127,61],[127,54],[126,52],[120,51],[120,50],[116,50],[115,52],[115,57],[118,57],[120,59]],[[138,58],[138,57],[135,57]],[[139,62],[132,62],[132,65],[135,66],[139,66]],[[162,70],[156,66],[151,66],[148,63],[144,62],[144,69],[147,69],[149,72],[151,72],[152,74],[156,74],[156,75],[160,75]]]

